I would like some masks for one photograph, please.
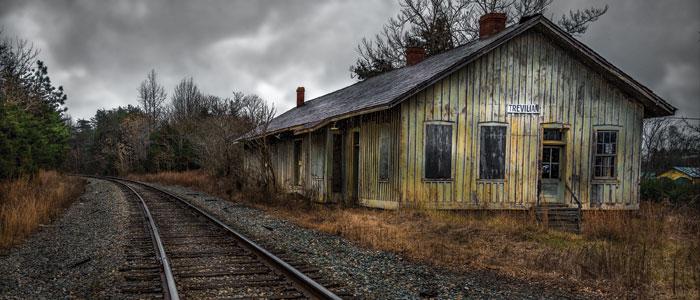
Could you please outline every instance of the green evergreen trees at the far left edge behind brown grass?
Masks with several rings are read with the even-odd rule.
[[[66,95],[38,54],[0,31],[0,180],[59,168],[68,150]]]

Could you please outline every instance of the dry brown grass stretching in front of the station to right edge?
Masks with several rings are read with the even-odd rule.
[[[280,199],[244,201],[202,172],[135,178],[243,201],[363,247],[455,271],[495,270],[617,297],[700,297],[700,213],[659,203],[635,212],[587,212],[582,234],[547,230],[532,214],[335,209]]]

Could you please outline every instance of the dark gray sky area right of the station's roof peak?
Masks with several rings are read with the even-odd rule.
[[[608,4],[580,39],[676,106],[677,115],[700,117],[700,1],[582,2],[560,1],[554,10]]]

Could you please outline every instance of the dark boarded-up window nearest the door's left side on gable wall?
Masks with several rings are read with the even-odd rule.
[[[481,126],[480,142],[479,178],[505,178],[506,126]]]

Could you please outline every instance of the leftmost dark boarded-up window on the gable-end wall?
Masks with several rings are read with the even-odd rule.
[[[425,178],[452,178],[452,125],[425,126]]]

